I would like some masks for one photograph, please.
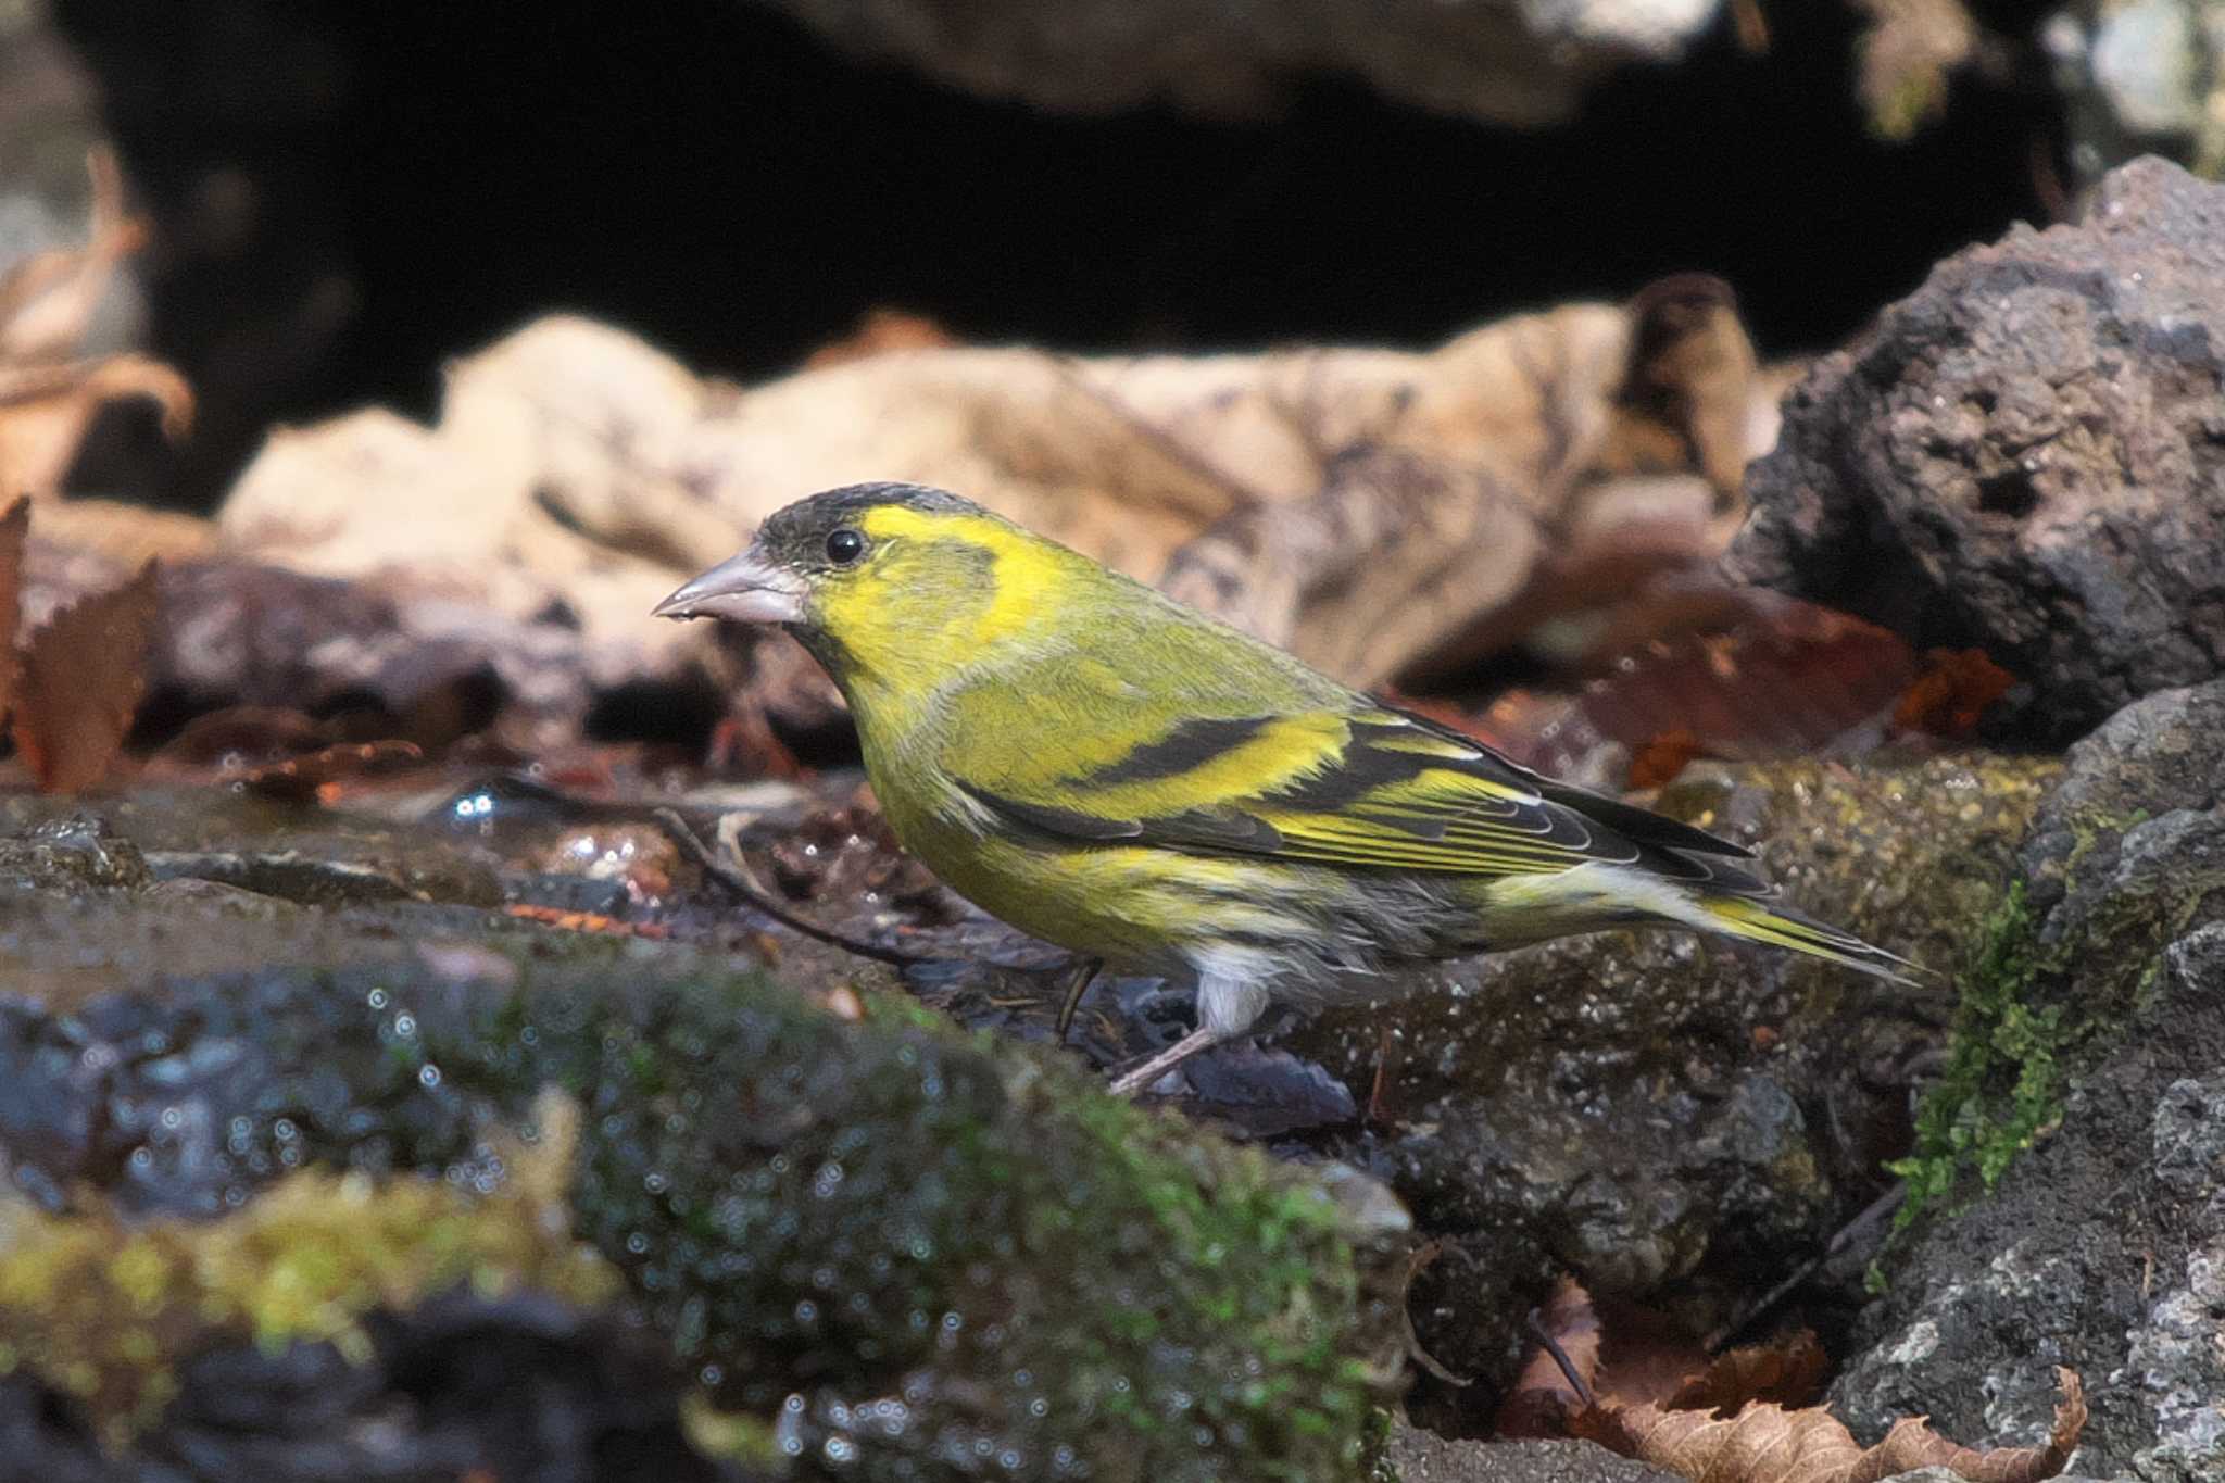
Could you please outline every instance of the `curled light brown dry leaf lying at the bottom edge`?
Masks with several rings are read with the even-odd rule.
[[[1951,1467],[1971,1483],[2038,1483],[2063,1472],[2085,1430],[2085,1392],[2074,1370],[2056,1370],[2063,1403],[2045,1447],[1976,1452],[1931,1432],[1920,1419],[1893,1423],[1862,1447],[1822,1407],[1784,1410],[1764,1401],[1720,1419],[1660,1405],[1593,1405],[1569,1416],[1569,1432],[1653,1467],[1707,1483],[1880,1483],[1916,1467]]]

